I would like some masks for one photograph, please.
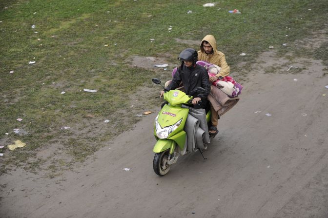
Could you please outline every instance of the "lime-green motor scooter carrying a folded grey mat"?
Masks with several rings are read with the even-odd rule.
[[[161,84],[160,79],[152,81]],[[204,92],[202,87],[198,87],[191,94]],[[153,168],[159,176],[166,175],[180,156],[197,151],[202,154],[210,143],[210,111],[206,114],[204,109],[189,107],[193,97],[177,89],[165,92],[164,99],[168,103],[158,113],[154,124],[157,142],[153,149]]]

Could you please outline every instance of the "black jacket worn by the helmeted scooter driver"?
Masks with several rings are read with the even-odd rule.
[[[184,84],[185,94],[190,95],[190,92],[195,88],[203,87],[205,89],[205,93],[198,95],[196,94],[194,98],[199,97],[202,100],[206,100],[211,90],[211,84],[208,79],[207,71],[203,66],[195,64],[194,66],[186,67],[183,65],[182,69],[181,67],[178,68],[172,82],[164,90],[169,91],[176,89],[182,81]]]

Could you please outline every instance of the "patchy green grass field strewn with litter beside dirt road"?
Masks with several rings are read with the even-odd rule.
[[[282,55],[294,52],[328,65],[327,43],[316,50],[288,46],[327,29],[327,0],[227,0],[203,7],[205,3],[0,0],[0,145],[18,139],[27,144],[14,151],[2,149],[1,171],[24,164],[36,172],[49,159],[49,170],[69,168],[132,128],[140,119],[137,114],[159,105],[154,100],[159,88],[150,79],[169,79],[172,67],[143,69],[132,66],[130,59],[153,56],[178,64],[176,57],[190,45],[176,39],[214,35],[233,75],[241,80],[247,74],[239,73],[237,64],[251,64],[268,46]],[[241,14],[228,13],[235,8]],[[242,52],[247,55],[240,56]],[[147,86],[148,95],[139,94],[141,86]],[[103,124],[105,119],[111,121]],[[21,133],[15,134],[15,128]],[[38,149],[58,141],[66,159],[56,152],[48,158],[36,156]]]

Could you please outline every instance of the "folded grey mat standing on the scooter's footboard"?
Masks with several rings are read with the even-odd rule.
[[[197,148],[206,149],[210,142],[208,127],[206,122],[206,112],[204,109],[195,109],[182,105],[189,109],[189,114],[184,124],[184,131],[187,134],[188,150],[195,151]]]

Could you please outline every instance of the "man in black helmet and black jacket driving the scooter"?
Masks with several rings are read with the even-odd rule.
[[[192,104],[195,108],[205,109],[207,105],[207,96],[211,90],[211,84],[206,69],[196,64],[198,60],[197,51],[193,48],[184,49],[180,53],[178,59],[181,61],[181,65],[175,73],[172,82],[164,91],[178,88],[181,81],[184,85],[184,93],[187,95],[190,95],[190,92],[197,87],[202,87],[205,89],[205,93],[196,94],[192,100]],[[160,97],[162,97],[164,91],[161,91]],[[196,105],[197,103],[198,105]]]

